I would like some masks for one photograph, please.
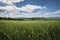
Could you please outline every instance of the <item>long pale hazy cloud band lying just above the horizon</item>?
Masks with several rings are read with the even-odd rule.
[[[58,11],[58,10],[57,10]],[[54,11],[56,12],[56,11]],[[18,13],[16,11],[11,11],[9,13],[0,13],[1,17],[11,17],[11,18],[20,18],[20,17],[26,17],[26,18],[31,18],[31,17],[58,17],[59,14],[58,13],[54,13],[54,12],[42,12],[42,13]],[[55,15],[58,14],[58,15]]]

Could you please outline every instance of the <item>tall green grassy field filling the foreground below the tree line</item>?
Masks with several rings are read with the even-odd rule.
[[[0,40],[60,40],[60,20],[0,20]]]

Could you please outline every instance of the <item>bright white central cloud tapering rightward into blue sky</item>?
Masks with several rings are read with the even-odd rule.
[[[46,7],[42,7],[42,6],[36,6],[36,5],[25,5],[23,7],[20,8],[21,11],[26,11],[26,12],[32,12],[35,9],[45,9]]]

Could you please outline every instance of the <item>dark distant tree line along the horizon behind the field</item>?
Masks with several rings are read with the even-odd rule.
[[[57,20],[55,18],[6,18],[0,17],[0,20]],[[60,19],[58,19],[60,20]]]

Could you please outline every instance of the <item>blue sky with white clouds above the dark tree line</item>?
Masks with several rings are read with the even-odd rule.
[[[0,0],[0,17],[60,17],[60,0]]]

